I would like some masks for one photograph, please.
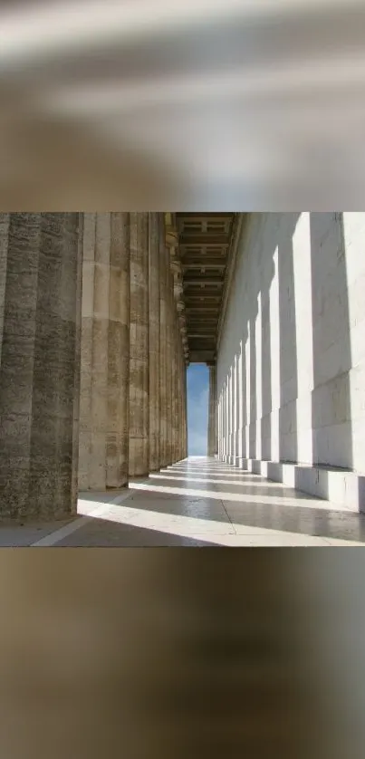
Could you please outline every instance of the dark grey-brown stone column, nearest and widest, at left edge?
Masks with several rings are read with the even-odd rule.
[[[76,511],[78,222],[77,213],[0,214],[2,517]]]

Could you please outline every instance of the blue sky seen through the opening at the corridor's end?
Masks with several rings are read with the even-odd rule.
[[[209,370],[205,364],[187,367],[187,455],[207,456]]]

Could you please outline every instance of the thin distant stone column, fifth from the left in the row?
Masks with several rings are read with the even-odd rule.
[[[168,250],[163,214],[159,221],[159,435],[160,466],[168,464]]]

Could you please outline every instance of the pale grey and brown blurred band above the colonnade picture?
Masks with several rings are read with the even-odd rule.
[[[362,0],[18,0],[0,30],[3,210],[364,197]]]

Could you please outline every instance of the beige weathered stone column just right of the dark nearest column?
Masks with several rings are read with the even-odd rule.
[[[128,482],[129,214],[84,214],[79,487]]]

